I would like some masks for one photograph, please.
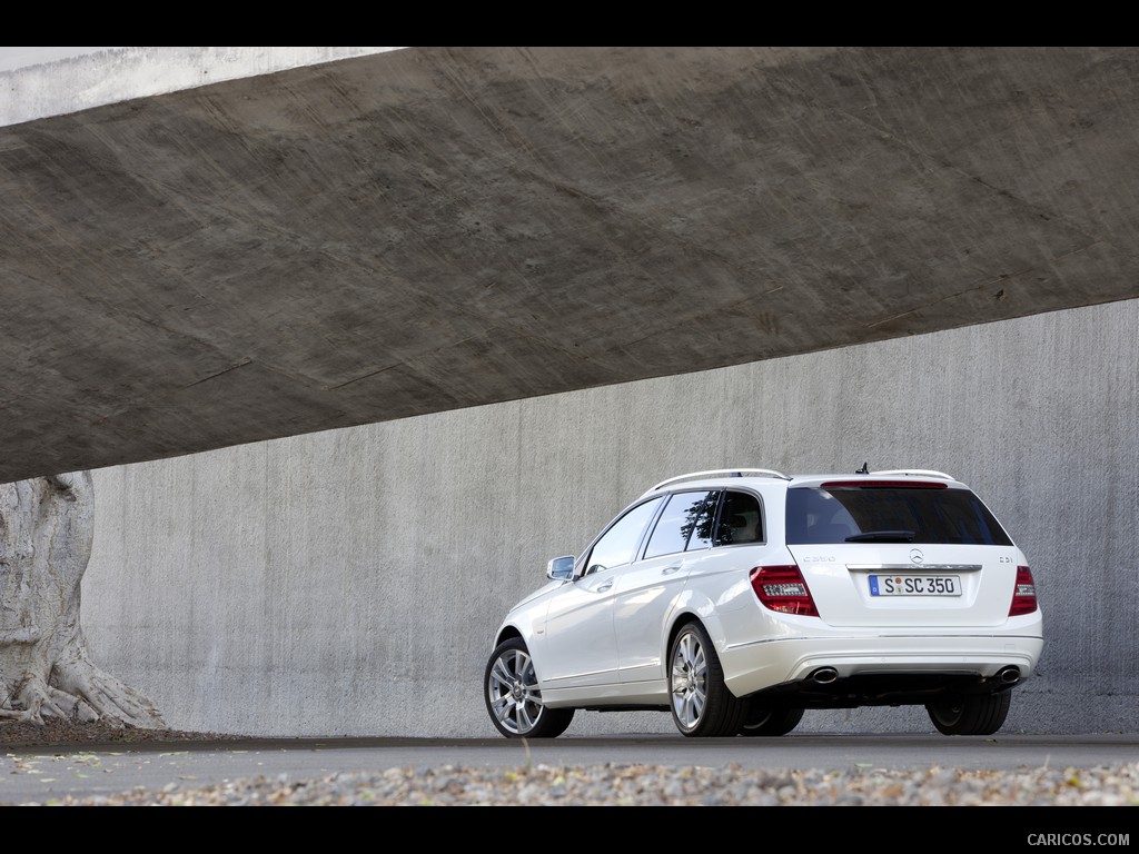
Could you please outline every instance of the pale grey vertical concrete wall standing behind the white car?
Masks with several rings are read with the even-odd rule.
[[[673,474],[869,462],[957,475],[1027,552],[1046,649],[1005,732],[1139,731],[1137,328],[1116,303],[100,469],[90,649],[175,728],[491,737],[491,633],[549,557]]]

